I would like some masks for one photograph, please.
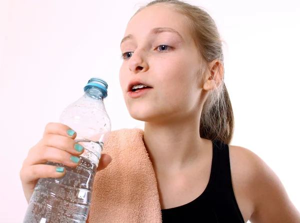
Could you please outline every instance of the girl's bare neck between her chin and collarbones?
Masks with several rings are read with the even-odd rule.
[[[172,174],[198,160],[208,141],[200,137],[199,125],[195,119],[145,122],[143,140],[155,172]]]

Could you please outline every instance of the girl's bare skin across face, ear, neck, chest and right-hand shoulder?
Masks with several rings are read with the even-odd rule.
[[[223,78],[222,64],[212,61],[200,81],[188,22],[163,4],[134,15],[124,36],[120,85],[130,115],[145,122],[143,140],[161,208],[183,205],[199,196],[208,182],[212,144],[199,136],[199,122],[209,91]],[[152,88],[132,98],[128,84],[133,80]],[[229,152],[233,190],[245,222],[300,222],[282,183],[256,154],[233,145]]]

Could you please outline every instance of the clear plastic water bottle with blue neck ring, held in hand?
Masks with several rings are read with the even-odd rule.
[[[103,104],[106,96],[107,83],[93,77],[84,86],[83,96],[63,110],[59,121],[77,132],[75,140],[85,148],[81,162],[77,167],[47,162],[63,166],[65,174],[38,180],[23,222],[85,222],[94,175],[110,132],[110,119]]]

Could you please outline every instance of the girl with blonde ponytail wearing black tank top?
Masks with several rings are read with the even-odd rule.
[[[129,20],[120,48],[120,85],[130,115],[145,123],[163,222],[300,222],[276,174],[250,150],[229,145],[233,112],[222,41],[204,10],[152,1]],[[78,165],[70,156],[83,151],[73,148],[76,134],[68,129],[49,123],[30,149],[20,171],[27,201],[38,178],[64,174],[46,161]],[[110,161],[103,153],[98,169]]]

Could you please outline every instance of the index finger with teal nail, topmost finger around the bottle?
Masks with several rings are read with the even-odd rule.
[[[71,129],[69,126],[58,123],[58,122],[49,122],[45,126],[44,134],[59,134],[69,138],[75,138],[77,133]]]

